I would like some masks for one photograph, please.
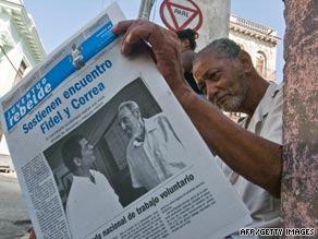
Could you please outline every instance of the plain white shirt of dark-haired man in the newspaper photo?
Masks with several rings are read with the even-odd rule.
[[[123,211],[119,198],[103,175],[90,170],[95,183],[73,176],[66,201],[66,218],[73,239],[81,239]]]

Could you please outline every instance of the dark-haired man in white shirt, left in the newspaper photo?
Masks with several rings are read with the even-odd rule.
[[[123,210],[103,175],[91,170],[93,146],[82,135],[71,136],[62,147],[65,166],[73,174],[66,201],[66,218],[73,239],[84,238]]]

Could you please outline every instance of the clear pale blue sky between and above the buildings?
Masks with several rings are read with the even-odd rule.
[[[64,40],[80,31],[108,4],[115,0],[23,0],[32,14],[38,35],[50,53]],[[117,0],[126,19],[136,19],[140,0]],[[195,0],[194,0],[195,1]],[[150,20],[161,24],[159,8],[162,0],[157,0]],[[283,35],[285,23],[282,0],[231,0],[231,13],[252,22],[277,29],[281,40],[277,50],[277,79],[282,80]]]

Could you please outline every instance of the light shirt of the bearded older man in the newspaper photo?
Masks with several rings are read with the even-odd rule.
[[[186,166],[186,153],[164,116],[144,121],[144,142],[132,139],[126,157],[133,187],[151,190]]]

